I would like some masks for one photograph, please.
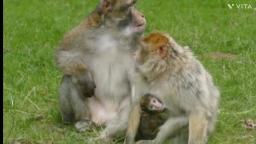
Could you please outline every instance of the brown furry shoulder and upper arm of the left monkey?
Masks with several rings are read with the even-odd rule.
[[[93,40],[88,40],[92,33],[90,28],[83,25],[88,20],[89,18],[85,18],[77,27],[69,31],[55,51],[56,65],[62,69],[64,75],[75,76],[83,74],[88,69],[94,44]]]

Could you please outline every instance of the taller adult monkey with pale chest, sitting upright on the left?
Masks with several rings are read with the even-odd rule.
[[[55,53],[63,72],[62,120],[75,123],[79,131],[95,124],[106,125],[101,138],[125,134],[135,82],[132,55],[146,27],[136,3],[100,0],[97,9],[63,37]],[[83,81],[89,72],[91,77]],[[88,81],[95,85],[87,87]],[[81,92],[94,88],[91,98]]]

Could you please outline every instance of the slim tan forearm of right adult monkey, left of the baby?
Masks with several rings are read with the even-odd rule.
[[[140,124],[140,105],[135,103],[130,111],[128,127],[126,131],[126,144],[134,143],[135,135]]]

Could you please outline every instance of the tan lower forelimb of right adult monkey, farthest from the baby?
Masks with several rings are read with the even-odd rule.
[[[206,142],[207,119],[203,111],[189,116],[189,144],[203,144]]]

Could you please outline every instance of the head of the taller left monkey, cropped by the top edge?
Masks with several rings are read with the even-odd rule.
[[[126,35],[142,35],[146,28],[146,19],[135,5],[137,0],[102,0],[108,1],[105,21],[112,28],[124,30]]]

